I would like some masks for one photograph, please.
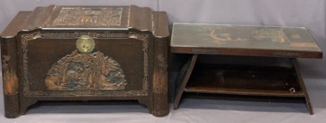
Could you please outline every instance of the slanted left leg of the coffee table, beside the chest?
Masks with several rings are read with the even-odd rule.
[[[174,100],[174,109],[178,108],[178,105],[180,103],[181,96],[183,94],[183,91],[185,89],[185,86],[188,83],[188,80],[190,78],[191,72],[193,72],[193,68],[195,66],[196,60],[198,55],[194,54],[191,60],[189,60],[183,67],[181,67],[180,72],[178,73],[178,78],[176,79],[176,84],[180,84],[180,86],[176,86],[176,98]]]

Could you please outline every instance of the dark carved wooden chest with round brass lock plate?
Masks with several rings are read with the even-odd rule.
[[[37,101],[167,101],[167,15],[137,6],[22,11],[1,34],[6,117]]]

